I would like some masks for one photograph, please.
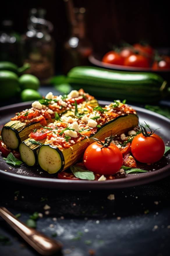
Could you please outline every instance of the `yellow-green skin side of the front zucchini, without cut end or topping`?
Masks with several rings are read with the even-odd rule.
[[[61,172],[71,165],[75,164],[75,162],[79,161],[83,154],[85,149],[94,142],[92,139],[93,137],[98,138],[100,140],[104,140],[106,137],[109,137],[110,134],[122,134],[124,132],[127,132],[129,129],[134,128],[138,124],[138,116],[135,114],[127,114],[123,116],[118,116],[115,119],[103,124],[98,131],[95,134],[92,134],[89,138],[85,138],[82,141],[75,143],[73,146],[67,149],[60,150],[59,148],[55,146],[51,146],[48,144],[45,144],[43,146],[50,146],[60,154],[61,160],[63,161],[63,165],[61,169],[59,169],[57,172]],[[38,152],[38,159],[39,159],[40,151]],[[40,167],[41,163],[39,162]]]

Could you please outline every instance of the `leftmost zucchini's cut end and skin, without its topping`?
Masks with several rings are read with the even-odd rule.
[[[50,122],[46,120],[47,123]],[[54,122],[54,120],[53,120]],[[2,140],[11,149],[18,148],[21,141],[28,138],[28,135],[34,130],[40,127],[40,122],[33,122],[26,124],[18,120],[10,121],[2,128]]]

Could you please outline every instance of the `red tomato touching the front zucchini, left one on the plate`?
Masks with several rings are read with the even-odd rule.
[[[118,147],[112,143],[110,146],[102,148],[102,145],[94,142],[86,148],[83,161],[88,170],[98,174],[110,175],[120,170],[123,156]]]

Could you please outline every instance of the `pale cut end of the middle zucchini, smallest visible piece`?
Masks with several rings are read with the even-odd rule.
[[[36,164],[37,153],[34,152],[31,148],[26,146],[24,143],[21,143],[19,146],[19,151],[20,151],[21,159],[24,163],[26,163],[26,165],[34,166]]]

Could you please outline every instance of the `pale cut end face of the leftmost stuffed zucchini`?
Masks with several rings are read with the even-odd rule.
[[[17,134],[14,130],[3,127],[2,132],[2,140],[11,149],[16,149],[19,146],[19,139],[17,138]]]

